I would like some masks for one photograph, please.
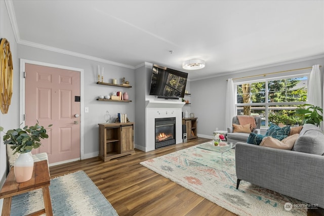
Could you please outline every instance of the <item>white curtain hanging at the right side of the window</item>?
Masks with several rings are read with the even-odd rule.
[[[308,104],[322,107],[322,87],[320,81],[319,65],[313,65],[308,81],[307,99]]]

